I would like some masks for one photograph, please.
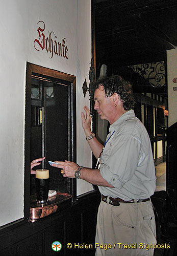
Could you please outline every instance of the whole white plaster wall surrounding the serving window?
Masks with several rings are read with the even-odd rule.
[[[82,85],[91,59],[90,0],[1,0],[0,8],[0,226],[23,218],[24,107],[27,61],[75,75],[77,78],[77,162],[91,167],[91,151],[81,124],[81,111],[89,105]],[[45,23],[45,34],[53,31],[57,41],[66,38],[68,57],[37,51],[38,22]],[[30,170],[29,170],[30,171]],[[78,195],[92,190],[84,181]]]

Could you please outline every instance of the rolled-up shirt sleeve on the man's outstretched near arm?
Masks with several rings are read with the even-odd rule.
[[[112,186],[121,189],[131,180],[138,166],[141,142],[131,135],[115,135],[105,146],[100,174]]]

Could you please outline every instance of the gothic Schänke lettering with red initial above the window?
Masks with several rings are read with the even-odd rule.
[[[40,26],[37,29],[39,38],[34,40],[34,48],[37,51],[40,49],[45,49],[47,53],[50,53],[51,59],[53,58],[54,54],[68,59],[68,48],[65,46],[67,41],[66,38],[62,39],[61,42],[58,42],[57,36],[53,31],[48,31],[48,36],[46,37],[43,33],[45,30],[45,23],[42,20],[40,20],[38,23],[40,23]]]

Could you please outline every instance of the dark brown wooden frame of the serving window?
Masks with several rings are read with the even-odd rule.
[[[76,99],[75,86],[76,78],[60,71],[44,68],[33,63],[27,62],[26,73],[26,108],[25,108],[25,127],[24,127],[24,218],[30,216],[30,141],[31,141],[31,84],[33,73],[48,76],[51,78],[62,79],[72,83],[72,156],[71,161],[76,161]],[[72,194],[72,200],[76,199],[77,188],[76,180],[70,179],[69,190]]]

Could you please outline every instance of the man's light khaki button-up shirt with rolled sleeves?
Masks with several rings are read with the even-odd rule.
[[[101,194],[125,201],[154,194],[156,175],[150,139],[130,110],[111,126],[100,164],[100,174],[114,188],[98,186]],[[115,132],[114,132],[115,131]]]

